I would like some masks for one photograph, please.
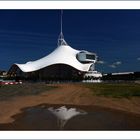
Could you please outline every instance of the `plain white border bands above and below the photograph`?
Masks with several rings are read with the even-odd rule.
[[[1,9],[139,9],[140,1],[0,1]],[[0,131],[0,139],[140,139],[140,131]]]

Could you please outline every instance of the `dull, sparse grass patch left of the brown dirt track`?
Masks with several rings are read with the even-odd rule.
[[[54,88],[56,87],[48,86],[43,83],[3,85],[0,87],[0,100],[8,100],[15,96],[37,95]]]

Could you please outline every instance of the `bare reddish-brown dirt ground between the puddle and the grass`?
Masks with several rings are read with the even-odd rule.
[[[53,85],[54,86],[54,85]],[[140,98],[111,98],[93,96],[90,89],[79,84],[58,84],[54,88],[39,95],[14,97],[0,102],[0,123],[13,122],[12,116],[21,112],[22,108],[39,104],[92,105],[140,114]]]

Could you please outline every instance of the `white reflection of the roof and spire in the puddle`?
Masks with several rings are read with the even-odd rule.
[[[76,108],[66,108],[66,106],[62,106],[59,108],[49,107],[48,110],[57,117],[57,124],[60,129],[63,129],[65,124],[77,115],[86,115],[87,112],[84,110],[78,110]]]

